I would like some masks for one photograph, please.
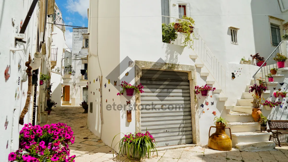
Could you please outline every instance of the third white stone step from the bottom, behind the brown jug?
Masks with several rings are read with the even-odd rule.
[[[231,128],[232,133],[260,130],[259,123],[254,122],[254,121],[231,122],[231,123],[228,123],[228,127]],[[227,132],[227,130],[226,130],[226,134],[227,133],[229,133],[229,132]]]

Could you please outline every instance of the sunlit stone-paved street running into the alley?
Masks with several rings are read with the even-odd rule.
[[[111,162],[129,161],[120,156],[112,148],[106,146],[99,137],[87,127],[87,114],[82,107],[54,108],[48,116],[48,123],[67,123],[75,135],[75,143],[69,146],[71,155],[76,155],[76,162]],[[45,125],[45,124],[41,124]],[[84,139],[85,138],[85,139]],[[117,155],[117,156],[116,156]],[[131,160],[132,161],[132,160]],[[177,148],[158,151],[147,162],[287,162],[288,146],[276,147],[271,151],[246,152],[237,149],[231,151],[212,150],[206,146]]]

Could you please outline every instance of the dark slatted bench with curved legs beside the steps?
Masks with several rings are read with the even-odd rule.
[[[272,132],[272,135],[270,135],[269,141],[271,140],[271,137],[277,138],[278,145],[279,147],[281,147],[278,135],[283,134],[283,133],[288,133],[288,132],[281,132],[281,131],[288,130],[288,120],[268,120],[268,125],[269,125],[269,129],[267,129],[267,132]]]

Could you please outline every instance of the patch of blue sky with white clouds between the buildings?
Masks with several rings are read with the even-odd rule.
[[[88,27],[87,9],[89,0],[55,0],[58,7],[62,10],[62,18],[65,25]],[[72,28],[65,27],[65,39],[69,48],[72,48]]]

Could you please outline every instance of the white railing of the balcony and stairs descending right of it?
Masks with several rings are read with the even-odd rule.
[[[162,23],[165,23],[165,24],[169,24],[170,22],[180,22],[180,21],[189,21],[189,20],[173,18],[169,16],[162,16]],[[191,22],[190,24],[191,26],[193,26]],[[207,44],[199,35],[197,29],[194,29],[193,33],[190,36],[193,38],[193,42],[192,41],[190,42],[190,47],[200,58],[200,61],[209,70],[214,80],[219,84],[224,95],[226,95],[226,71],[224,67],[219,63],[219,60],[213,55],[211,50],[208,48]],[[184,39],[185,39],[185,35],[183,33],[177,32],[177,39],[175,39],[175,41],[171,41],[170,44],[176,44],[176,45],[182,46]],[[194,53],[194,52],[191,51],[191,53]]]

